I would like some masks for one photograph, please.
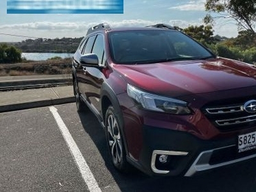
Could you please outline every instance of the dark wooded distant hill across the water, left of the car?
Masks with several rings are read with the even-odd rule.
[[[22,42],[12,42],[22,52],[76,52],[76,49],[83,37],[80,38],[37,38],[27,39]]]

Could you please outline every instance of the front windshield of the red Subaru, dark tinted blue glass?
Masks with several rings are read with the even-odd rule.
[[[115,63],[144,64],[211,58],[213,55],[188,36],[173,30],[112,31],[111,56]]]

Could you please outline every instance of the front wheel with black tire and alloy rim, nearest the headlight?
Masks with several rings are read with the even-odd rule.
[[[109,106],[105,118],[105,133],[109,154],[115,168],[120,172],[129,172],[131,165],[127,162],[124,139],[121,132],[120,118],[116,116],[113,106]]]

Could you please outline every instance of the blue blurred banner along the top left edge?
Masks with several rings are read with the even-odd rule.
[[[124,0],[7,0],[7,13],[124,13]]]

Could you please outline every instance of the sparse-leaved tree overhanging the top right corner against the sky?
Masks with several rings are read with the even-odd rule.
[[[239,29],[255,32],[256,1],[255,0],[206,0],[205,10],[209,13],[204,18],[206,24],[216,18],[232,18],[236,20]],[[227,16],[212,17],[211,12],[227,13]]]

